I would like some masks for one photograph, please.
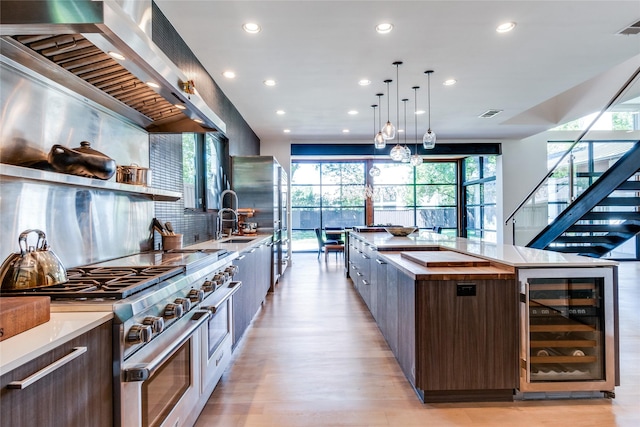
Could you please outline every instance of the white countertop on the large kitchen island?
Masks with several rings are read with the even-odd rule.
[[[534,267],[605,267],[618,265],[616,261],[584,257],[561,252],[545,251],[514,245],[449,237],[432,231],[421,231],[408,237],[395,237],[387,232],[354,233],[379,251],[420,250],[438,247],[473,255],[518,268]]]

